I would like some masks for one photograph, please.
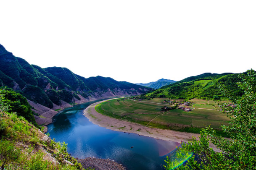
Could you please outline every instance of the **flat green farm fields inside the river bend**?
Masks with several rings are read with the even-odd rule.
[[[166,128],[178,131],[199,132],[200,128],[211,126],[219,129],[227,125],[229,118],[221,112],[214,101],[194,99],[189,107],[190,112],[181,109],[161,111],[164,106],[171,107],[166,99],[156,98],[139,101],[138,99],[113,99],[100,103],[95,107],[97,112],[113,118],[140,123],[150,127]],[[168,99],[167,99],[168,100]],[[182,102],[182,101],[176,101]]]

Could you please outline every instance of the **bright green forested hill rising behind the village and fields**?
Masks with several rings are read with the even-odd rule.
[[[154,92],[146,94],[146,96],[172,99],[219,99],[225,97],[219,86],[225,86],[235,95],[241,95],[242,92],[236,84],[238,81],[240,81],[238,74],[203,73],[161,87]]]

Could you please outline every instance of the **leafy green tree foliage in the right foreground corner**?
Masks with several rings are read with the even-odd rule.
[[[186,165],[177,167],[178,170],[252,170],[256,167],[256,72],[248,70],[239,75],[242,82],[238,87],[243,90],[242,96],[234,96],[222,87],[222,91],[236,104],[236,107],[223,107],[223,112],[230,117],[228,126],[221,126],[230,139],[217,136],[212,128],[201,131],[200,140],[182,144],[177,157],[185,157],[193,152]],[[209,148],[211,141],[220,152]],[[174,169],[182,162],[166,161],[166,169]]]

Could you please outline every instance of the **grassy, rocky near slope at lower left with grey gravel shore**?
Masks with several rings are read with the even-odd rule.
[[[18,108],[14,108],[17,102]],[[0,89],[1,170],[92,170],[92,167],[124,170],[112,160],[71,157],[65,142],[55,142],[28,122],[30,117],[27,115],[31,115],[31,110],[27,106],[26,99],[20,94]]]

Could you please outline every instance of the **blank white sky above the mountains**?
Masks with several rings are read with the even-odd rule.
[[[241,73],[256,70],[256,1],[2,0],[0,44],[85,78]]]

